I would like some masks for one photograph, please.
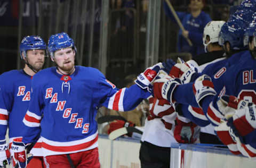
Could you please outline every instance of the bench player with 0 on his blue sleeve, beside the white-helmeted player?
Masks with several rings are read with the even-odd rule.
[[[244,33],[243,29],[241,28],[241,26],[237,24],[236,21],[229,21],[223,24],[220,31],[220,38],[222,39],[223,43],[220,43],[220,44],[223,46],[223,49],[227,54],[226,59],[207,65],[206,68],[201,73],[197,73],[193,69],[187,68],[187,70],[179,77],[182,83],[189,83],[191,81],[195,81],[195,79],[197,79],[202,74],[207,74],[210,77],[212,77],[212,82],[214,83],[214,89],[217,92],[221,92],[224,86],[222,82],[223,74],[226,73],[228,66],[230,66],[232,63],[238,62],[239,58],[244,53],[244,51],[241,50],[241,48],[243,48],[243,33]],[[182,69],[182,67],[186,67],[187,65],[184,63],[180,65],[179,64],[174,65],[170,72],[177,73],[173,71],[175,71],[175,69],[177,69],[178,66],[179,68]],[[191,85],[191,84],[188,84],[188,85]],[[178,87],[177,89],[179,90],[179,88],[182,88],[182,87],[186,88],[186,86],[181,86],[181,87]],[[201,127],[205,127],[206,125],[210,124],[209,120],[206,118],[203,111],[200,108],[198,108],[198,105],[195,99],[191,98],[193,96],[189,97],[187,96],[187,92],[184,91],[184,89],[181,89],[181,90],[183,91],[177,91],[177,93],[179,93],[177,94],[178,95],[177,97],[181,98],[181,100],[177,100],[177,102],[181,104],[187,104],[187,102],[189,102],[188,104],[190,105],[189,107],[186,107],[186,106],[181,107],[182,108],[181,111],[183,112],[183,115],[188,119],[190,119],[191,121],[193,121],[194,123],[200,125]],[[191,91],[190,94],[193,95],[193,91]],[[186,103],[182,103],[183,101],[185,101]]]

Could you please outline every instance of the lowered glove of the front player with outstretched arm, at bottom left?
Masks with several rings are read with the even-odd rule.
[[[19,167],[26,167],[29,161],[33,158],[27,149],[31,144],[25,145],[21,139],[14,139],[12,143],[12,150],[14,152],[14,161],[18,162]]]

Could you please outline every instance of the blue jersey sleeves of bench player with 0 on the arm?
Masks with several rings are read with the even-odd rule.
[[[225,94],[225,75],[227,69],[231,66],[236,64],[236,62],[239,62],[239,60],[242,58],[242,55],[246,51],[238,52],[228,59],[220,60],[218,62],[215,62],[213,64],[207,65],[206,68],[203,70],[202,73],[196,74],[196,79],[202,74],[207,74],[211,77],[212,82],[214,84],[214,90],[217,91],[220,95]],[[206,111],[203,111],[201,108],[198,107],[198,104],[196,102],[196,99],[194,97],[193,93],[193,83],[188,83],[186,85],[178,86],[177,89],[174,90],[174,99],[181,104],[187,104],[189,106],[182,106],[182,112],[185,117],[190,119],[192,122],[200,125],[201,127],[204,127],[208,124],[210,124],[209,120],[207,119],[205,113]]]

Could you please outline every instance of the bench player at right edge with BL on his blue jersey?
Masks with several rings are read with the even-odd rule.
[[[191,89],[194,91],[197,105],[202,107],[207,119],[209,119],[212,124],[219,125],[215,127],[215,131],[223,144],[227,145],[234,154],[256,157],[256,144],[254,141],[256,128],[254,122],[255,107],[247,107],[248,101],[255,102],[255,79],[253,75],[256,63],[254,53],[255,26],[250,27],[246,32],[248,32],[249,36],[247,39],[249,39],[250,52],[244,52],[242,55],[243,59],[241,59],[239,63],[229,66],[223,77],[223,83],[226,85],[226,94],[235,95],[238,98],[234,96],[222,96],[223,93],[217,94],[213,89],[215,85],[213,85],[211,78],[207,75],[197,78],[191,86]],[[252,32],[251,35],[250,32]],[[181,100],[179,96],[175,96],[174,93],[178,90],[179,83],[169,81],[163,83],[163,86],[163,89],[167,88],[165,90],[167,96],[163,94],[163,90],[162,96],[168,97],[169,100]],[[175,87],[177,89],[175,89]],[[181,88],[188,89],[189,87],[187,85]],[[157,87],[154,85],[154,94],[155,91],[157,96]],[[172,96],[171,93],[173,93],[174,96]],[[158,97],[161,95],[158,95]],[[245,100],[247,100],[247,102]],[[247,112],[244,109],[247,109]],[[236,110],[238,112],[234,114]],[[228,122],[225,121],[227,119]]]

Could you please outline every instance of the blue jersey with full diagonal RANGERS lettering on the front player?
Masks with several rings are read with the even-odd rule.
[[[44,156],[98,147],[95,116],[100,106],[130,111],[150,96],[137,85],[117,89],[97,69],[75,69],[71,75],[61,75],[53,67],[33,77],[31,101],[23,119],[26,136],[22,141],[33,142],[41,133]]]

